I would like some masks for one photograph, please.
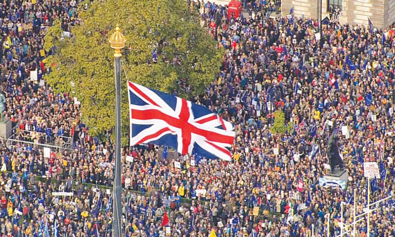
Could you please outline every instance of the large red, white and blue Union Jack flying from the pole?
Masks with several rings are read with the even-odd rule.
[[[230,122],[203,106],[127,82],[130,145],[169,146],[179,153],[231,160],[235,132]]]

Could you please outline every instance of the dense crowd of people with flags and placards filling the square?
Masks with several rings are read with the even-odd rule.
[[[233,160],[180,156],[176,168],[167,148],[123,149],[124,236],[212,237],[214,230],[217,237],[323,237],[329,215],[334,237],[342,219],[353,220],[354,190],[358,214],[367,195],[372,202],[394,195],[394,28],[331,21],[320,43],[316,20],[270,18],[262,10],[276,2],[243,1],[249,16],[237,19],[227,18],[226,7],[194,6],[225,54],[218,78],[191,100],[234,124]],[[54,19],[70,31],[78,3],[16,0],[2,6],[3,114],[16,127],[14,138],[25,142],[1,140],[1,237],[111,236],[110,136],[89,136],[73,97],[41,82],[50,73],[43,35]],[[276,111],[290,126],[284,134],[270,130]],[[349,174],[344,190],[319,184],[333,133],[340,134]],[[72,149],[38,145],[62,147],[68,137]],[[383,171],[370,194],[366,161]],[[371,236],[395,236],[393,199],[376,208]],[[161,226],[165,213],[167,228]],[[356,225],[355,236],[366,236],[366,224],[365,218]]]

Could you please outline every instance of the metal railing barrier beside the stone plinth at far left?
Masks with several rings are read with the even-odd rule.
[[[9,149],[21,147],[23,144],[33,145],[38,149],[44,147],[50,148],[52,151],[61,152],[73,150],[73,137],[47,136],[45,133],[21,130],[18,125],[12,128],[13,134],[6,139],[6,146]]]

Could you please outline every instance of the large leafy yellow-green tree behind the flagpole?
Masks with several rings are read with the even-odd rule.
[[[121,61],[124,138],[127,79],[167,93],[176,89],[186,97],[202,93],[222,62],[223,52],[185,0],[95,0],[87,10],[80,7],[79,18],[71,38],[59,37],[59,21],[48,30],[44,47],[54,53],[47,58],[52,72],[45,79],[56,92],[78,98],[82,119],[94,136],[115,125],[114,59],[108,39],[117,23],[127,40]],[[189,92],[182,90],[185,84]]]

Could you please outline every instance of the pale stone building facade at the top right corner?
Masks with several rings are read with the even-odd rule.
[[[319,19],[322,2],[322,19],[338,15],[341,24],[368,25],[368,18],[377,29],[395,22],[395,0],[281,0],[281,14],[286,16],[291,7],[294,16]]]

